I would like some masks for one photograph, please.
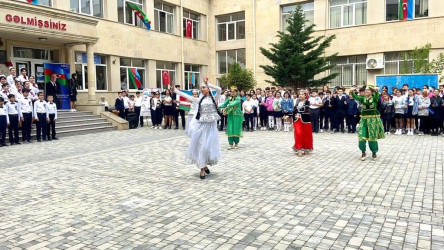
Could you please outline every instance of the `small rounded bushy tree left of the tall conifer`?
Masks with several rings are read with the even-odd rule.
[[[251,90],[256,86],[253,72],[243,69],[238,63],[234,63],[228,69],[228,73],[223,75],[221,84],[223,88],[236,87],[238,90]]]

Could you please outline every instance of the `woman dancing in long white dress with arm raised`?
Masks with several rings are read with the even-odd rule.
[[[214,97],[210,88],[216,90]],[[202,97],[199,98],[194,118],[197,122],[190,128],[191,140],[185,155],[191,163],[195,163],[200,169],[200,179],[205,179],[205,174],[210,174],[208,166],[217,164],[221,157],[219,131],[217,130],[217,121],[220,119],[220,115],[216,104],[221,88],[208,83],[208,78],[204,78],[204,82],[200,85],[200,92]]]

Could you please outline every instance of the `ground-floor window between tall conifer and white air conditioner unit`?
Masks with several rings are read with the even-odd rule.
[[[337,57],[336,66],[330,73],[339,75],[332,80],[332,86],[351,87],[364,86],[367,82],[366,55]]]

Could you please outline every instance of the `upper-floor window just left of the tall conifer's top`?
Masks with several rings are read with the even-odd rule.
[[[217,37],[219,42],[245,39],[245,13],[217,17]]]

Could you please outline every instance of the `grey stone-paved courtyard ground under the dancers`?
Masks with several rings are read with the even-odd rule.
[[[184,132],[148,128],[0,149],[0,249],[443,249],[442,137],[246,133],[206,180]]]

